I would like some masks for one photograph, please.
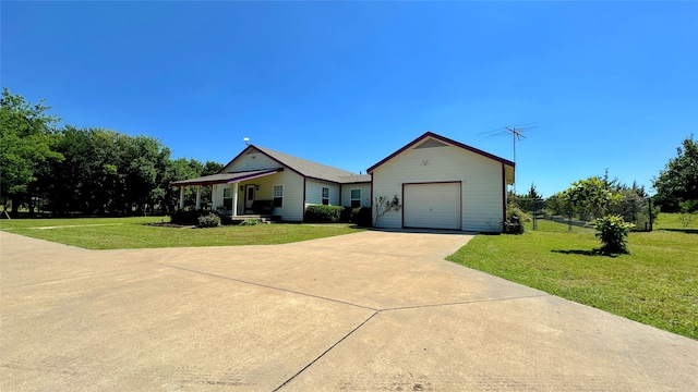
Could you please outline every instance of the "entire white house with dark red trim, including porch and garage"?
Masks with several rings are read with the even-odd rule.
[[[512,161],[426,132],[364,175],[249,145],[217,174],[171,185],[181,188],[180,208],[184,186],[210,185],[212,209],[231,217],[266,208],[285,221],[302,221],[306,206],[324,204],[373,207],[377,228],[501,232],[514,168]],[[385,210],[378,203],[384,199],[397,199],[400,208]]]

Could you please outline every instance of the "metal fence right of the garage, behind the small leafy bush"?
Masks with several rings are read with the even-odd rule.
[[[532,199],[515,197],[510,200],[524,213],[525,222],[534,231],[580,232],[593,230],[595,218],[601,218],[599,211],[583,211],[575,209],[567,200]],[[657,209],[651,198],[626,197],[614,204],[606,211],[622,216],[626,222],[635,224],[635,231],[652,231]]]

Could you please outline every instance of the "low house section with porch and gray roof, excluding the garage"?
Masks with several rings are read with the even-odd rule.
[[[371,176],[249,145],[218,173],[177,181],[180,208],[184,186],[210,185],[212,209],[238,217],[266,212],[285,221],[302,221],[308,205],[371,207]],[[233,208],[234,206],[234,208]]]

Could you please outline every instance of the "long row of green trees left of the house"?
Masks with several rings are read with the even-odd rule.
[[[50,107],[2,90],[0,108],[0,204],[57,216],[171,213],[179,189],[169,184],[218,172],[222,164],[172,159],[151,136],[98,127],[59,127]],[[194,204],[195,189],[185,189]],[[202,200],[210,199],[204,188]]]

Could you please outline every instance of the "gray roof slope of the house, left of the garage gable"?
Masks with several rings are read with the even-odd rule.
[[[330,166],[309,161],[308,159],[298,158],[288,154],[275,151],[260,146],[251,146],[275,159],[279,163],[289,169],[312,179],[326,180],[336,183],[357,183],[371,182],[371,175],[356,174],[346,170],[333,168]]]

